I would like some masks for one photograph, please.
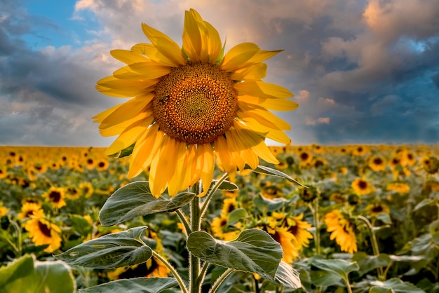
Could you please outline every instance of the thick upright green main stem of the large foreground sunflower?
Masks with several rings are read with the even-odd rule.
[[[198,194],[201,191],[201,182],[194,184],[192,189],[194,193]],[[201,210],[200,210],[200,198],[195,196],[191,201],[191,232],[201,230]],[[200,259],[189,252],[189,292],[200,293],[201,292],[201,280],[198,278],[200,274]]]

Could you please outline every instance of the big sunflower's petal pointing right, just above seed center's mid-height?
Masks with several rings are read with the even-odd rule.
[[[248,80],[243,83],[235,83],[234,88],[252,97],[293,97],[290,90],[264,81]]]

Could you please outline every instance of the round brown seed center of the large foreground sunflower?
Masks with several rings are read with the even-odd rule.
[[[156,84],[153,115],[160,129],[187,144],[207,144],[233,124],[237,92],[229,75],[215,64],[174,68]]]

